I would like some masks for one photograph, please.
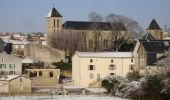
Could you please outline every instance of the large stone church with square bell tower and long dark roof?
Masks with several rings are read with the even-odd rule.
[[[73,48],[70,50],[69,46],[66,45],[65,50],[69,49],[68,51],[72,52],[71,54],[76,50],[89,52],[114,51],[113,44],[116,39],[123,37],[124,40],[128,40],[130,37],[122,23],[66,21],[62,24],[62,15],[55,8],[52,8],[46,16],[46,33],[47,45],[54,46],[63,42],[68,43]],[[64,35],[64,41],[52,40],[56,34]],[[67,34],[71,35],[66,36]]]

